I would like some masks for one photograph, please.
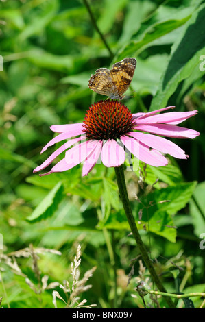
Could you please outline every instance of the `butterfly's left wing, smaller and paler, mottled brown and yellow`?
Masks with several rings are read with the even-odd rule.
[[[117,93],[117,86],[112,81],[109,69],[97,69],[95,75],[91,75],[88,86],[101,95],[110,96],[113,92]]]

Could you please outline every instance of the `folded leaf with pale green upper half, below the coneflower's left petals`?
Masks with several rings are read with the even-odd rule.
[[[39,203],[34,212],[27,217],[27,221],[32,223],[36,221],[41,221],[42,219],[47,219],[51,217],[63,197],[63,187],[62,183],[58,182],[56,186],[49,192],[49,194]]]

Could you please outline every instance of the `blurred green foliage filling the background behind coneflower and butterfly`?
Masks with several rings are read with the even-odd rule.
[[[198,110],[198,115],[183,126],[201,135],[194,140],[175,140],[189,154],[188,160],[168,156],[169,166],[165,168],[147,166],[144,184],[148,189],[158,179],[148,195],[138,184],[138,170],[125,175],[141,236],[152,258],[157,258],[156,269],[167,290],[203,292],[205,249],[199,245],[200,234],[205,233],[205,3],[88,3],[111,52],[95,31],[84,1],[0,1],[3,253],[14,255],[30,244],[61,251],[61,256],[40,254],[38,266],[42,276],[49,276],[49,282],[62,284],[71,278],[71,261],[80,243],[82,275],[97,267],[89,281],[93,288],[81,298],[97,304],[97,308],[143,307],[134,291],[138,260],[126,286],[138,251],[128,236],[114,169],[98,164],[84,178],[81,165],[49,177],[32,173],[51,153],[39,154],[53,136],[49,126],[82,122],[91,103],[101,99],[88,88],[91,73],[125,57],[135,57],[136,72],[123,101],[132,112],[169,105],[176,106],[176,111]],[[134,193],[142,203],[134,199]],[[165,200],[169,202],[159,203]],[[53,308],[51,290],[36,295],[25,283],[25,277],[36,286],[39,283],[32,258],[10,258],[16,258],[21,273],[2,259],[2,306]],[[56,290],[60,292],[59,286]],[[145,299],[155,305],[149,297]],[[193,304],[200,307],[202,299],[194,298]],[[163,299],[160,305],[166,305]],[[178,307],[183,305],[178,302]],[[58,306],[64,304],[59,301]]]

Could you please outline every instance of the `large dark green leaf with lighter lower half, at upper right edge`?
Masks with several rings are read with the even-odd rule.
[[[199,59],[205,48],[204,16],[205,5],[201,5],[186,22],[182,34],[173,44],[167,69],[162,75],[158,92],[152,99],[150,110],[166,106],[178,84],[189,77],[200,64]]]

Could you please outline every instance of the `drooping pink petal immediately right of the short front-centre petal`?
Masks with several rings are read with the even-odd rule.
[[[167,159],[156,150],[150,150],[147,145],[139,142],[135,138],[129,138],[128,136],[121,136],[121,141],[125,145],[126,149],[130,151],[136,158],[150,164],[152,166],[165,166],[168,164]]]

